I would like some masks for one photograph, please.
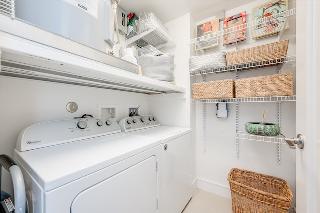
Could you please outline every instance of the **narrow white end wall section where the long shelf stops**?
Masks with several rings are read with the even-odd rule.
[[[190,39],[190,14],[165,24],[176,46],[160,49],[163,53],[174,54],[176,63],[174,77],[177,86],[186,88],[185,99],[152,100],[149,102],[149,112],[160,119],[160,123],[169,126],[190,128],[190,78],[188,75],[190,50],[185,41]],[[142,71],[143,72],[143,71]],[[171,95],[166,95],[170,97]],[[152,98],[152,95],[150,96]]]

